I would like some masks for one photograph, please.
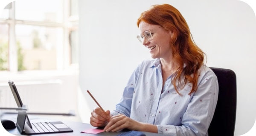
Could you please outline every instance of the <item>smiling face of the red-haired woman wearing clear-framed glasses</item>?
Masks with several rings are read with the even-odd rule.
[[[152,40],[143,39],[143,45],[148,48],[151,57],[168,59],[172,56],[172,49],[170,41],[172,38],[172,31],[166,31],[163,27],[159,25],[151,25],[145,23],[144,21],[140,22],[139,25],[141,34],[144,34],[145,31],[151,30]]]

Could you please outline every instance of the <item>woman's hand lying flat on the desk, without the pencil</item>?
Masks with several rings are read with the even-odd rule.
[[[124,128],[129,130],[140,130],[140,126],[142,126],[140,122],[137,122],[125,115],[119,114],[111,117],[110,122],[108,122],[108,125],[105,126],[104,131],[116,132]]]

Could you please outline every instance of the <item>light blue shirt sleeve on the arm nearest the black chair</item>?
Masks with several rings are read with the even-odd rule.
[[[157,125],[158,133],[170,136],[208,136],[208,128],[218,100],[218,80],[207,71],[182,116],[180,126]]]

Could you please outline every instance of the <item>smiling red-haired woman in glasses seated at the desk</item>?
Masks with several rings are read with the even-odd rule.
[[[173,136],[208,136],[218,81],[204,65],[204,53],[192,40],[180,12],[168,4],[152,6],[137,20],[140,42],[153,60],[131,75],[116,110],[99,108],[90,124],[107,132],[128,128]]]

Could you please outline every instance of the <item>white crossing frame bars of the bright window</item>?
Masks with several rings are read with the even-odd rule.
[[[17,45],[15,37],[15,26],[16,25],[29,25],[29,26],[44,26],[44,27],[53,27],[53,28],[62,28],[63,29],[63,45],[58,45],[56,47],[56,56],[57,64],[56,70],[53,71],[62,71],[66,69],[78,69],[78,64],[71,63],[71,45],[70,45],[70,34],[71,31],[78,30],[79,18],[77,16],[70,16],[70,0],[63,0],[63,22],[45,22],[45,21],[31,21],[31,20],[17,20],[15,18],[15,1],[9,7],[9,18],[3,19],[0,18],[1,24],[9,25],[9,53],[8,53],[8,72],[18,72],[18,62],[17,62]],[[32,70],[28,70],[32,71]],[[33,70],[36,71],[36,70]],[[37,70],[41,71],[41,70]]]

